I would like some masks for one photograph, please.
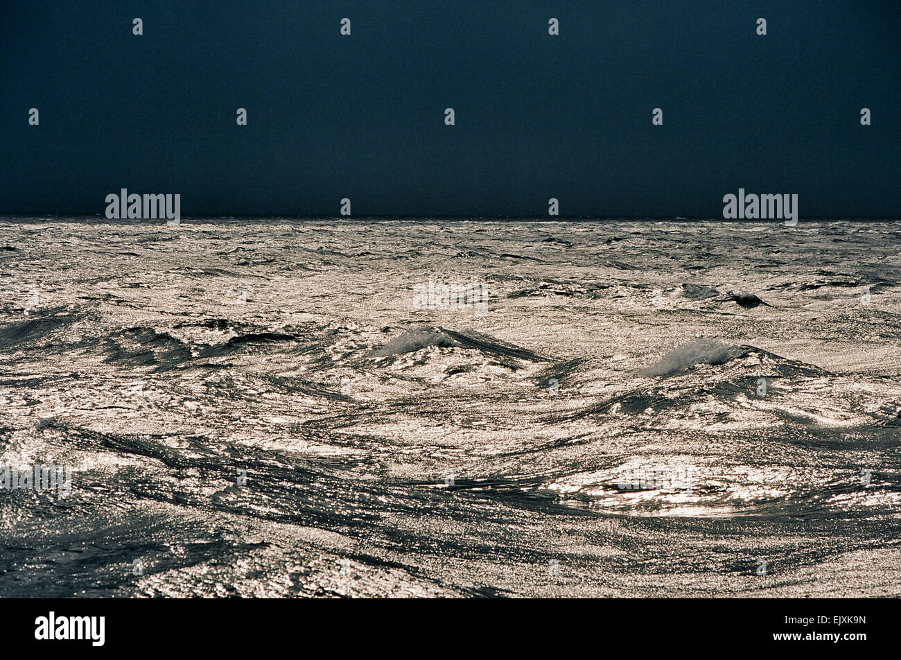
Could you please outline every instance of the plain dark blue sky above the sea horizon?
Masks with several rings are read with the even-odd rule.
[[[898,0],[0,7],[0,213],[901,215]]]

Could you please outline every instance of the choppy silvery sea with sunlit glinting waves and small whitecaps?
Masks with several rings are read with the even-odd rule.
[[[0,217],[0,596],[899,596],[897,227]]]

